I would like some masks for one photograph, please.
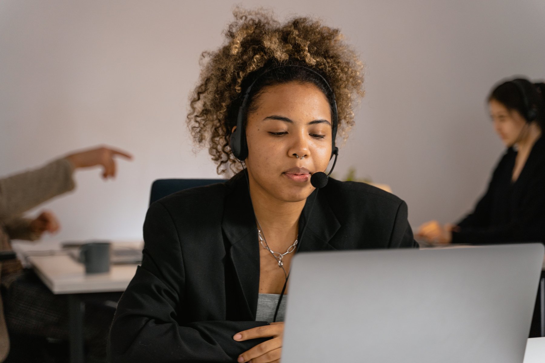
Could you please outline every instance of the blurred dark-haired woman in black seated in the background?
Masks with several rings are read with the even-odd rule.
[[[429,243],[545,242],[545,84],[517,78],[488,96],[494,130],[507,146],[475,209],[456,224],[424,223]]]

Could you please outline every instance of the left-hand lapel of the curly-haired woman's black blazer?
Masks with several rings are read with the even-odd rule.
[[[223,210],[222,229],[231,244],[229,256],[244,297],[244,309],[255,319],[259,293],[259,243],[256,217],[244,174],[233,180]]]

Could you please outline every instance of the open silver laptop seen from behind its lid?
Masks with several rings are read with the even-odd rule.
[[[522,363],[543,250],[298,254],[282,363]]]

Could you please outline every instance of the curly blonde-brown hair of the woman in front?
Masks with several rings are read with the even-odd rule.
[[[254,72],[271,65],[300,64],[323,75],[335,93],[337,136],[346,139],[354,125],[353,108],[364,96],[364,65],[343,41],[340,30],[310,17],[295,17],[282,24],[263,9],[236,8],[233,15],[225,44],[201,54],[201,75],[189,97],[187,114],[193,140],[198,146],[208,146],[217,173],[240,170],[229,137],[236,125],[243,84]]]

